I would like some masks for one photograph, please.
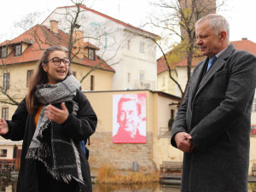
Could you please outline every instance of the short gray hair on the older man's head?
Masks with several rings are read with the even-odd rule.
[[[216,35],[218,35],[218,33],[221,31],[225,31],[227,32],[227,40],[230,40],[230,24],[228,20],[224,18],[224,16],[218,14],[204,16],[200,20],[196,21],[195,27],[205,20],[210,21],[210,27],[213,29]]]

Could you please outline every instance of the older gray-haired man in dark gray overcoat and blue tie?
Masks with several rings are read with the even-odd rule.
[[[189,80],[172,126],[183,154],[182,192],[245,192],[256,58],[229,42],[229,23],[207,15],[195,24],[207,55]]]

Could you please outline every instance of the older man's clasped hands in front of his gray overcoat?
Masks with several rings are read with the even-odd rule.
[[[186,132],[178,132],[174,137],[177,148],[184,153],[190,153],[195,148],[195,146],[190,143],[190,139],[192,139],[192,137]]]

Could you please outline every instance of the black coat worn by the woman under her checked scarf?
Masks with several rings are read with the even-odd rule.
[[[73,102],[65,102],[70,114],[67,120],[59,126],[61,126],[61,130],[63,130],[67,137],[73,138],[73,142],[79,149],[84,185],[79,184],[80,190],[78,189],[78,191],[91,192],[90,167],[80,147],[79,141],[90,137],[90,135],[96,131],[97,118],[96,113],[90,106],[90,102],[80,90],[77,90],[77,94],[74,96],[73,101],[77,102],[79,105],[77,115],[71,113],[73,111]],[[61,108],[61,103],[55,104],[54,106]],[[34,131],[36,129],[34,119],[35,115],[27,112],[24,99],[22,102],[20,102],[20,105],[16,109],[12,120],[7,121],[9,125],[9,133],[3,136],[13,141],[23,140],[17,192],[38,192],[36,160],[26,159],[26,152],[30,146]],[[65,150],[63,150],[63,153],[65,153]],[[76,190],[74,189],[74,192],[75,191]]]

